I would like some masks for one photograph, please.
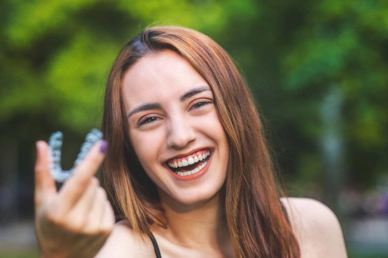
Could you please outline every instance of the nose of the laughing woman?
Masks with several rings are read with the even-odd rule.
[[[182,149],[196,138],[194,127],[183,117],[170,119],[167,131],[167,145],[174,149]]]

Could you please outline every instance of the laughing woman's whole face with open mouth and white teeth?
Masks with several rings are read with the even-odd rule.
[[[129,139],[162,196],[194,204],[226,178],[229,146],[207,81],[177,53],[137,61],[123,77]]]

